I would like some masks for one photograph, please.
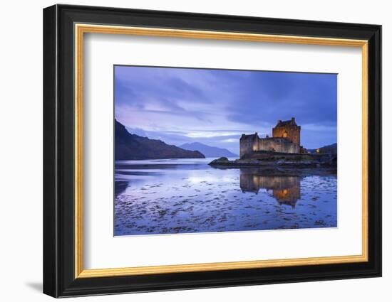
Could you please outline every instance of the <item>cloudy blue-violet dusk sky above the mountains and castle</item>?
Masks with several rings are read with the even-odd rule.
[[[239,153],[241,134],[272,135],[295,117],[301,144],[336,142],[337,75],[115,66],[115,118],[167,144],[198,141]]]

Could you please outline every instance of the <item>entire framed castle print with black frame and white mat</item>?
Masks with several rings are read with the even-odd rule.
[[[381,26],[43,10],[43,292],[381,276]]]

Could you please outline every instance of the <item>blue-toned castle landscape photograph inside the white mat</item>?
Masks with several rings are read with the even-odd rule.
[[[113,68],[114,236],[338,227],[337,74]]]

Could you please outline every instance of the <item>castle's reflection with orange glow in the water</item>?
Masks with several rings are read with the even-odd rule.
[[[260,189],[272,190],[272,196],[279,205],[291,205],[301,198],[301,177],[299,176],[263,176],[259,169],[240,170],[239,187],[242,192],[259,193]]]

